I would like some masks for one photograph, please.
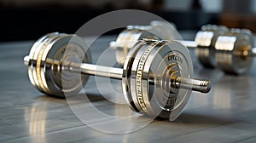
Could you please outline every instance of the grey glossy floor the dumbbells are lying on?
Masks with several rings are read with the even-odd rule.
[[[194,34],[183,32],[182,36],[192,39]],[[112,40],[114,37],[105,37],[93,45],[93,63]],[[173,122],[155,119],[143,129],[131,133],[106,134],[82,123],[66,100],[42,94],[31,85],[22,58],[32,43],[0,43],[1,142],[256,142],[255,60],[247,75],[240,77],[225,75],[218,69],[204,69],[194,62],[195,76],[211,79],[210,94],[194,93],[183,113]],[[104,56],[104,60],[115,60],[113,51],[107,54],[109,56]],[[192,60],[197,60],[193,51],[190,54]],[[122,92],[118,88],[121,83],[115,83],[113,88],[118,92],[110,94],[107,79],[98,80],[102,90],[111,98]],[[117,104],[102,98],[101,92],[96,89],[95,77],[89,78],[84,89],[90,94],[91,102],[102,111],[113,115],[120,113]],[[125,110],[130,111],[129,108]],[[88,116],[93,115],[88,112]],[[96,117],[95,120],[95,124],[101,125],[102,121]]]

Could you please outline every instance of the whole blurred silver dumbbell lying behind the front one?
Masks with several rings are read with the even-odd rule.
[[[165,22],[159,22],[157,27],[149,26],[151,29],[155,29],[153,32],[148,31],[143,26],[128,26],[117,37],[116,42],[110,43],[110,47],[116,49],[116,59],[119,61],[119,65],[123,65],[127,51],[131,49],[131,45],[125,45],[125,41],[131,41],[131,37],[143,38],[144,33],[149,33],[147,37],[153,37],[156,39],[170,39],[170,37],[157,37],[159,34],[155,34],[154,31],[160,31],[156,29],[168,28]],[[148,26],[146,26],[148,27]],[[169,26],[170,28],[170,26]],[[140,31],[134,34],[134,31]],[[164,31],[164,30],[161,30]],[[166,31],[167,32],[167,31]],[[135,36],[137,35],[137,36]],[[140,37],[138,37],[138,35]],[[151,35],[151,36],[150,36]],[[153,35],[153,36],[152,36]],[[160,34],[165,36],[167,34]],[[170,34],[172,35],[172,33]],[[127,38],[128,37],[128,38]],[[249,30],[228,29],[225,26],[206,25],[201,27],[201,31],[198,31],[195,36],[195,41],[179,41],[186,47],[195,48],[195,54],[201,64],[205,67],[220,66],[224,72],[241,74],[247,72],[252,64],[252,58],[255,56],[256,49],[253,49],[252,33]],[[121,43],[121,44],[120,44]],[[130,42],[131,43],[131,42]],[[218,47],[217,47],[218,46]],[[229,46],[228,48],[224,48]],[[219,48],[222,47],[222,48]]]

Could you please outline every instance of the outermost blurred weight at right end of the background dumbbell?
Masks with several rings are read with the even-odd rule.
[[[215,59],[224,71],[233,74],[247,72],[253,59],[248,56],[253,49],[253,34],[249,30],[230,29],[219,36],[215,44]],[[240,55],[240,56],[237,56]]]

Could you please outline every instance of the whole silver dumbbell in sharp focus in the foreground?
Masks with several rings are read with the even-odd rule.
[[[178,42],[140,40],[127,54],[123,69],[90,64],[86,49],[75,35],[39,38],[24,58],[30,82],[44,94],[65,97],[78,94],[89,75],[119,79],[133,111],[165,118],[180,114],[192,90],[211,89],[209,81],[191,78],[189,51]]]

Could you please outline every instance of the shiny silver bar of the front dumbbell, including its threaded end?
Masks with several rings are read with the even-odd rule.
[[[24,57],[24,64],[29,66],[30,58],[29,56]],[[54,61],[51,59],[47,59],[47,64],[53,64]],[[65,70],[69,70],[71,72],[81,72],[83,74],[98,76],[98,77],[109,77],[113,79],[122,80],[123,77],[123,69],[109,66],[97,66],[88,63],[75,63],[75,62],[67,62],[64,67]],[[154,80],[153,80],[154,81]],[[208,93],[211,89],[211,83],[207,80],[198,80],[193,78],[183,78],[176,77],[175,80],[170,84],[176,89],[192,89],[194,91],[198,91],[201,93]]]

